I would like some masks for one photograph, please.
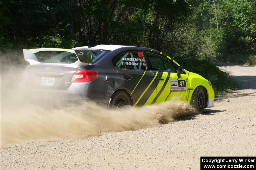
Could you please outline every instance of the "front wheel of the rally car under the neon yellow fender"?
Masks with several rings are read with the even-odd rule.
[[[196,113],[203,113],[205,108],[205,96],[204,90],[201,87],[197,87],[192,94],[190,105],[195,109]]]

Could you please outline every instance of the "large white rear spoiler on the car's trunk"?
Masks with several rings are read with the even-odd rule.
[[[61,48],[37,48],[37,49],[23,49],[23,56],[25,61],[28,61],[30,65],[32,64],[40,64],[41,62],[38,61],[36,58],[35,53],[40,51],[65,51],[71,52],[76,54],[78,61],[75,62],[77,66],[86,66],[88,64],[92,64],[93,61],[86,55],[83,55],[84,49],[61,49]]]

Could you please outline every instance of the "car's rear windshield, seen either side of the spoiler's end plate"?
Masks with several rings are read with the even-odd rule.
[[[106,55],[109,51],[98,51],[98,50],[85,50],[83,49],[84,55],[89,57],[93,63],[98,61],[101,57]],[[71,64],[76,62],[78,59],[75,53],[71,52],[61,52],[53,57],[49,58],[48,60],[44,61],[43,63],[67,63]]]

